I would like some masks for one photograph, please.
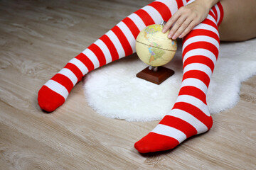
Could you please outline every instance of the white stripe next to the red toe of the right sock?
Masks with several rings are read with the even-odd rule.
[[[181,132],[181,130],[177,130],[176,128],[172,128],[167,125],[158,124],[156,125],[156,128],[152,130],[152,132],[168,137],[173,137],[174,139],[178,140],[179,143],[183,142],[183,140],[186,140],[186,135]]]

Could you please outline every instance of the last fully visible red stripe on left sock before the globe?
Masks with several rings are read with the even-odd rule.
[[[127,40],[127,37],[124,35],[122,30],[118,26],[114,26],[111,30],[115,35],[117,35],[118,40],[121,42],[125,52],[125,56],[132,55],[132,47],[129,44],[129,41]],[[124,56],[120,56],[120,57],[124,57]]]

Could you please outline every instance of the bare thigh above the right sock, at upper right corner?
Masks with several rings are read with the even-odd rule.
[[[220,40],[242,41],[256,37],[256,1],[220,0],[223,22],[219,26]]]

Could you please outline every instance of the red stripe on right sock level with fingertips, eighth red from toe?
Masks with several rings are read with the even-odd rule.
[[[188,33],[188,35],[186,35],[186,37],[183,38],[182,44],[184,44],[184,42],[186,42],[186,40],[188,40],[189,38],[192,38],[192,37],[198,36],[198,35],[206,35],[208,37],[214,38],[215,40],[217,40],[220,43],[220,38],[218,37],[218,35],[216,33],[213,33],[213,31],[204,30],[204,29],[196,29],[196,30],[191,30],[191,32]]]

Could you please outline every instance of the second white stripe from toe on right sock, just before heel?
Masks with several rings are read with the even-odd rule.
[[[175,108],[175,109],[171,110],[171,112],[167,115],[171,115],[176,118],[180,118],[180,119],[186,121],[187,123],[191,124],[193,126],[193,128],[196,128],[197,134],[206,132],[208,130],[208,128],[205,124],[203,124],[200,120],[195,118],[190,113],[187,113],[186,111],[182,111],[180,109]]]

